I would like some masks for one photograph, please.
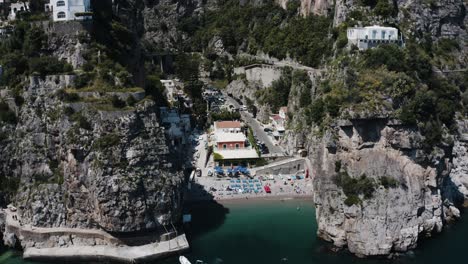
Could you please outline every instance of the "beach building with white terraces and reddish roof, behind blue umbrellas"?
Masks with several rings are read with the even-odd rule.
[[[247,146],[247,137],[242,132],[239,121],[219,121],[214,123],[214,149],[216,161],[220,165],[249,164],[258,159],[257,151]]]

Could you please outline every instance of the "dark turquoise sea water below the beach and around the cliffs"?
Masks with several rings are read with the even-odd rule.
[[[468,263],[468,220],[449,226],[405,257],[396,260],[359,259],[334,253],[317,239],[315,211],[308,201],[249,201],[249,204],[199,204],[191,208],[188,235],[192,263],[288,264],[441,264]],[[467,217],[465,215],[465,217]],[[0,263],[24,262],[19,256]],[[31,262],[29,262],[31,263]],[[177,258],[154,263],[177,264]]]

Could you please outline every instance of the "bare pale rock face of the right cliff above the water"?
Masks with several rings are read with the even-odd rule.
[[[388,119],[340,121],[312,140],[318,235],[357,255],[388,255],[415,248],[420,237],[459,217],[442,187],[450,180],[451,153],[425,154],[421,140],[411,127]],[[371,197],[347,200],[349,186],[336,181],[343,171],[370,179]]]

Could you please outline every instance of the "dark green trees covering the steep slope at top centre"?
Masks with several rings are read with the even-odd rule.
[[[231,54],[263,51],[283,59],[288,55],[313,67],[331,54],[328,31],[331,19],[322,16],[297,15],[294,7],[284,10],[274,1],[261,5],[224,1],[219,9],[201,17],[180,20],[179,28],[191,36],[185,51],[204,51],[216,38]],[[209,51],[207,51],[209,52]]]

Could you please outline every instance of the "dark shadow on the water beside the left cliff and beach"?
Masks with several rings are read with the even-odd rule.
[[[184,204],[184,214],[192,215],[192,222],[186,228],[189,240],[196,239],[212,230],[216,230],[226,220],[229,209],[214,200],[198,183],[192,183]]]

